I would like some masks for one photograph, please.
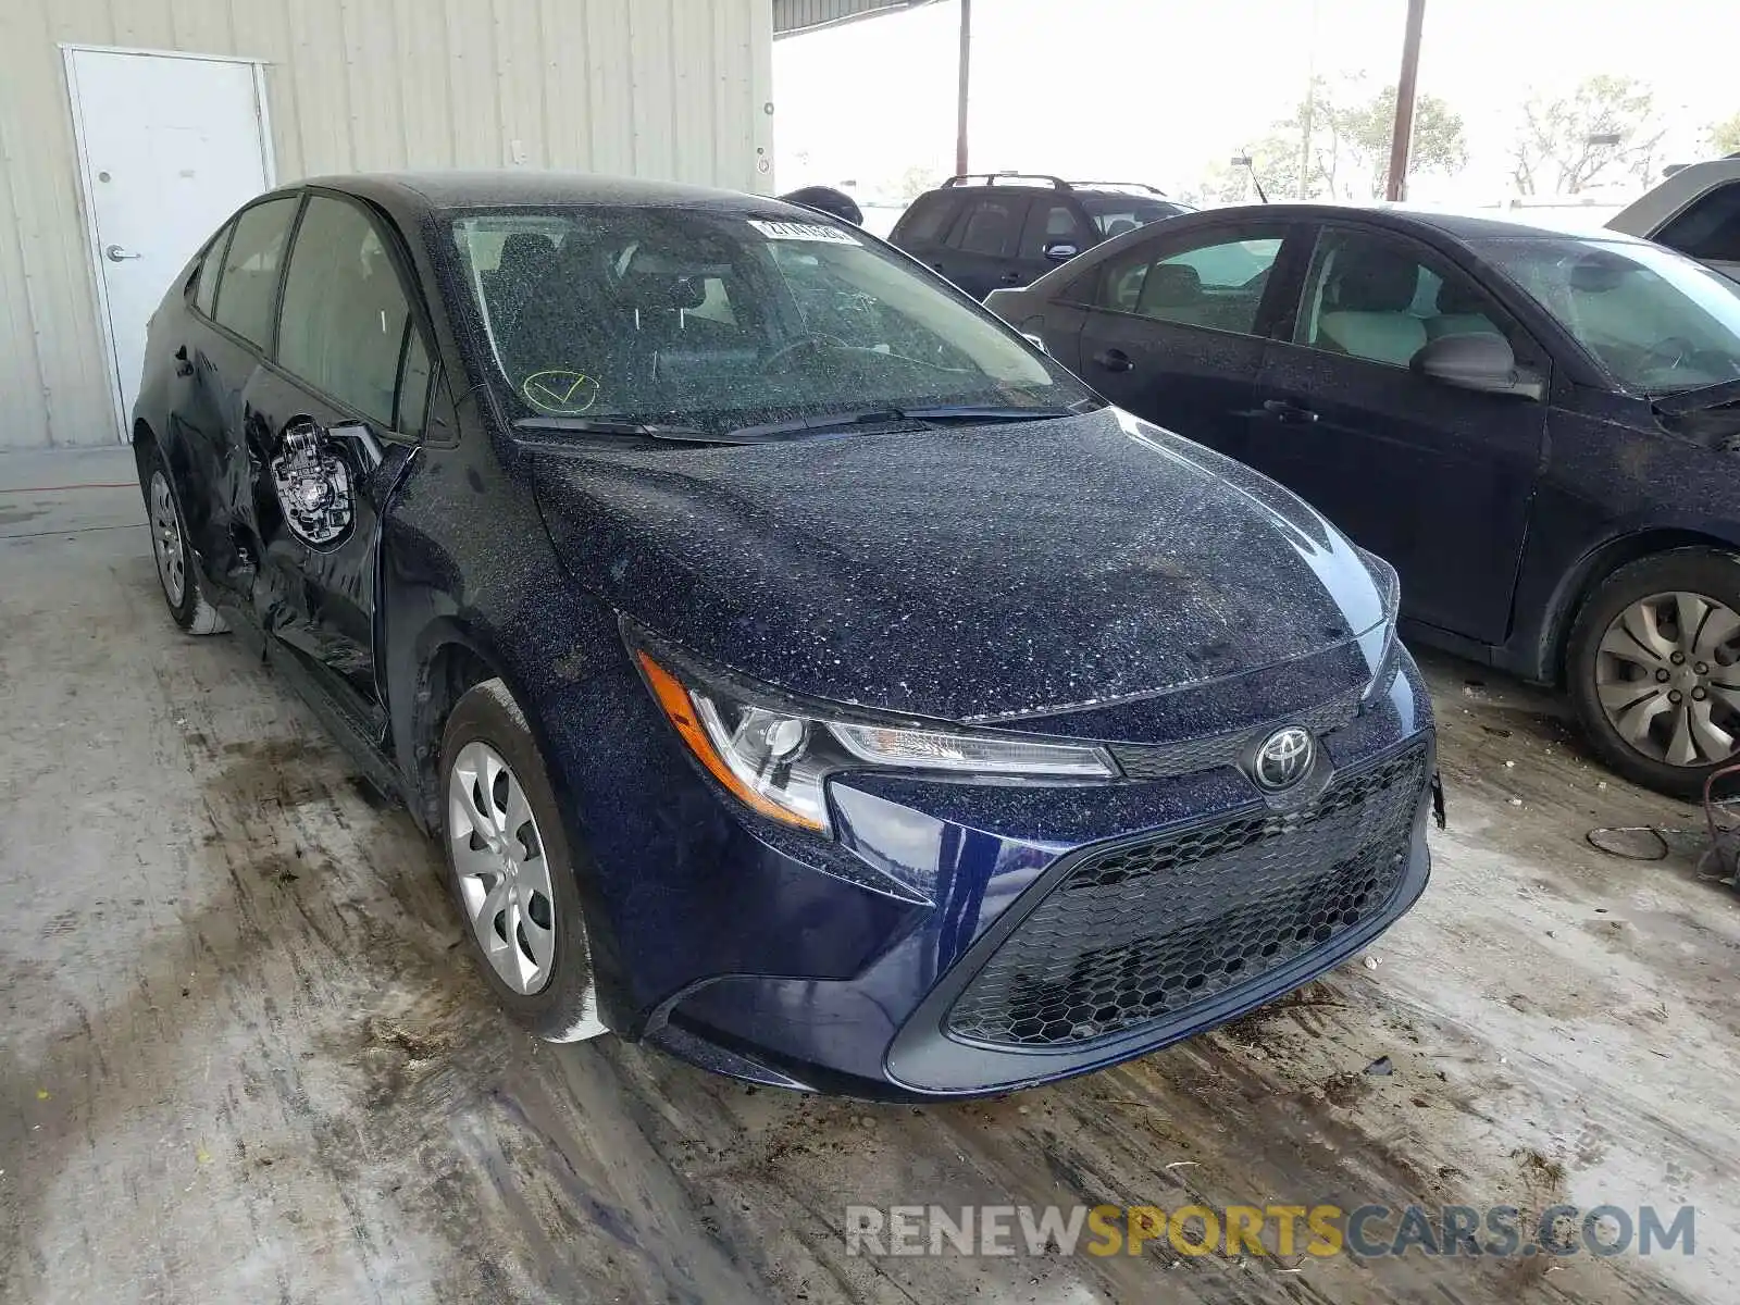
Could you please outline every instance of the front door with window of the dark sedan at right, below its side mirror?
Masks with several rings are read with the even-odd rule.
[[[1267,346],[1244,461],[1402,578],[1402,611],[1502,642],[1543,456],[1547,404],[1429,381],[1425,343],[1503,334],[1542,350],[1463,268],[1408,237],[1326,224],[1288,339]]]

